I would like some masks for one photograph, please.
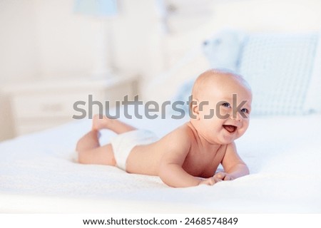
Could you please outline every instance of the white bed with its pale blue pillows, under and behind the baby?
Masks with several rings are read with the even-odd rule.
[[[234,4],[222,4],[218,13],[238,11],[241,3]],[[243,8],[252,9],[247,4]],[[274,9],[273,4],[270,7]],[[301,12],[300,7],[295,9]],[[91,128],[91,120],[73,120],[0,143],[0,212],[320,213],[320,34],[221,31],[218,26],[213,31],[215,35],[198,53],[208,67],[242,74],[253,89],[250,127],[236,141],[250,175],[213,186],[172,188],[159,177],[81,165],[75,162],[75,145]],[[179,65],[187,70],[179,73],[174,67],[148,88],[150,93],[161,94],[160,88],[169,85],[173,93],[150,99],[187,99],[196,75],[190,73],[189,62]],[[133,107],[130,111],[134,113]],[[179,120],[171,115],[169,110],[166,118],[128,120],[121,115],[120,119],[162,137],[188,121],[188,115]],[[113,133],[104,130],[101,143],[111,137]]]

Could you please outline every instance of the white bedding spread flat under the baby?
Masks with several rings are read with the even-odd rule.
[[[185,120],[125,120],[160,137]],[[253,118],[237,141],[250,175],[168,187],[158,177],[72,160],[78,120],[0,144],[0,212],[321,212],[321,115]],[[103,132],[102,143],[111,137]]]

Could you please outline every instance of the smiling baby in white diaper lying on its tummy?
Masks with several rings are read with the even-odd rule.
[[[234,142],[249,125],[252,93],[248,84],[233,73],[210,70],[198,76],[192,95],[190,121],[160,140],[150,131],[96,115],[92,130],[76,145],[78,162],[156,175],[171,187],[214,185],[248,175]],[[118,135],[101,146],[101,129]],[[215,174],[220,164],[224,172]]]

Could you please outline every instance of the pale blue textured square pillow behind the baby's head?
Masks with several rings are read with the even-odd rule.
[[[254,115],[302,115],[318,33],[251,33],[239,71],[253,89]]]

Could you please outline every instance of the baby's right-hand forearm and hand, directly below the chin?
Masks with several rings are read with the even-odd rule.
[[[221,163],[225,172],[218,172],[214,175],[214,177],[217,177],[220,180],[234,180],[250,173],[248,166],[236,152],[234,142],[230,143],[226,148],[226,152]]]

